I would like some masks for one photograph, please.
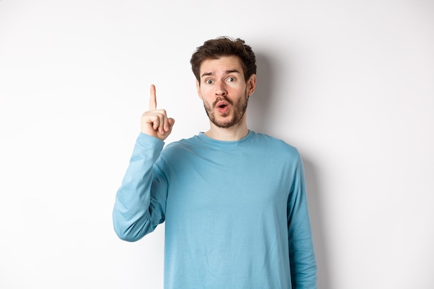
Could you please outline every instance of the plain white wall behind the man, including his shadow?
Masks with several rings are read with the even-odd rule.
[[[207,130],[220,35],[257,53],[250,129],[304,159],[318,287],[433,288],[429,0],[0,0],[0,288],[162,288],[164,225],[119,240],[114,195],[151,83],[167,142]]]

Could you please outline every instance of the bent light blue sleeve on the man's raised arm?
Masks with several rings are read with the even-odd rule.
[[[112,214],[114,231],[122,240],[139,240],[164,222],[167,182],[162,173],[154,172],[163,147],[155,137],[137,137]]]

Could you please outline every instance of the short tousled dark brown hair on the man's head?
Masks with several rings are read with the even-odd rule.
[[[252,74],[257,73],[257,64],[252,47],[245,44],[244,40],[231,37],[218,37],[214,40],[207,40],[199,46],[191,56],[191,70],[194,76],[200,81],[200,64],[207,59],[218,59],[222,56],[238,56],[243,66],[245,81],[248,81]]]

